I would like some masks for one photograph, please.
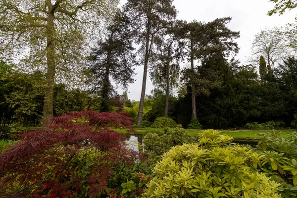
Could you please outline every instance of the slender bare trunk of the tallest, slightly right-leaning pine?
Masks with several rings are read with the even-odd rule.
[[[144,103],[145,103],[145,97],[146,97],[146,86],[147,86],[147,75],[148,75],[148,58],[152,46],[152,40],[149,45],[149,35],[150,35],[150,21],[148,21],[147,26],[147,35],[146,35],[146,54],[145,54],[145,66],[144,66],[144,76],[143,76],[143,85],[141,90],[141,97],[139,102],[139,109],[138,109],[138,119],[137,119],[137,125],[142,125],[142,118],[143,118],[143,110],[144,110]],[[153,36],[152,36],[153,37]]]

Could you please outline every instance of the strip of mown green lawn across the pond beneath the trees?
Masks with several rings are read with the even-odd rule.
[[[116,130],[119,133],[122,134],[127,134],[125,130]],[[192,136],[199,136],[200,133],[203,130],[196,130],[196,129],[186,129],[186,131],[191,134]],[[282,131],[282,137],[286,137],[288,133],[293,133],[296,130],[280,130]],[[159,135],[163,134],[164,131],[163,129],[155,129],[155,128],[150,128],[150,127],[145,127],[145,128],[136,128],[136,133],[138,135],[146,135],[147,133],[152,132],[152,133],[157,133]],[[230,130],[230,131],[221,131],[222,134],[226,134],[235,138],[259,138],[260,136],[258,135],[259,133],[264,133],[268,131],[235,131],[235,130]]]

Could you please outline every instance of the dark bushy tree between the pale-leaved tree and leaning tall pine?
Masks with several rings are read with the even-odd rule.
[[[134,66],[137,63],[132,38],[129,18],[118,12],[107,27],[106,38],[100,40],[91,53],[91,84],[94,93],[100,96],[101,111],[110,110],[109,101],[114,94],[110,78],[124,89],[127,89],[128,83],[134,82]]]

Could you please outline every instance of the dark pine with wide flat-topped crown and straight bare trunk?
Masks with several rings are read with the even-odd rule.
[[[194,118],[197,118],[196,94],[195,87],[196,79],[194,73],[197,74],[197,68],[194,66],[195,60],[205,59],[215,53],[229,56],[231,52],[238,52],[238,45],[234,39],[239,38],[239,32],[231,31],[226,24],[230,22],[231,18],[219,18],[209,23],[202,23],[193,21],[184,24],[180,32],[180,45],[184,46],[186,57],[191,62],[191,69],[184,72],[184,79],[189,80],[192,87],[192,109]],[[188,75],[189,74],[189,75]],[[204,87],[200,86],[200,87]]]

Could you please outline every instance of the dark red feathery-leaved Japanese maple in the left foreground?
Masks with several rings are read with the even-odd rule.
[[[0,154],[0,197],[32,197],[33,194],[38,197],[47,189],[52,192],[48,196],[50,198],[67,197],[77,192],[83,178],[75,176],[69,182],[67,179],[74,167],[67,171],[65,169],[80,149],[90,147],[108,153],[92,167],[95,174],[84,180],[90,186],[89,193],[95,195],[104,190],[111,174],[106,161],[119,162],[123,158],[129,160],[129,156],[135,156],[122,144],[124,136],[110,130],[111,127],[121,127],[134,131],[133,120],[127,117],[127,112],[69,112],[50,118],[48,122],[50,125],[47,128],[21,133],[20,141]],[[45,181],[44,175],[52,167],[55,176]],[[13,192],[15,181],[24,188]],[[32,187],[35,189],[33,194],[30,190]],[[7,195],[10,190],[11,194]]]

